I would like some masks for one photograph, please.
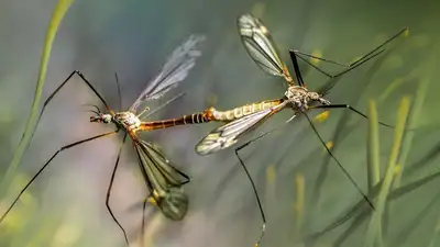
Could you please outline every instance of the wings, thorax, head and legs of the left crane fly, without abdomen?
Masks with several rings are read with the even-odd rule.
[[[94,115],[90,116],[90,122],[113,124],[116,126],[116,130],[109,133],[96,135],[61,147],[21,190],[21,192],[15,198],[10,207],[7,210],[7,212],[4,212],[0,217],[0,223],[4,220],[8,213],[19,201],[23,192],[31,186],[33,181],[35,181],[35,179],[45,170],[45,168],[59,153],[62,153],[63,150],[67,150],[72,147],[79,146],[80,144],[88,143],[94,139],[99,139],[105,136],[117,134],[120,131],[124,132],[124,136],[121,142],[118,157],[111,173],[110,183],[107,189],[106,206],[114,223],[122,231],[127,245],[129,245],[129,238],[127,236],[125,229],[119,223],[119,221],[117,220],[110,207],[111,189],[113,186],[116,171],[119,166],[122,147],[127,141],[127,136],[130,136],[130,138],[132,139],[133,148],[138,155],[139,167],[141,169],[145,184],[150,191],[147,200],[143,202],[144,210],[145,210],[145,204],[148,201],[152,204],[156,205],[166,217],[173,221],[183,220],[188,210],[188,197],[182,187],[185,183],[188,183],[190,181],[190,178],[183,171],[178,170],[166,158],[166,156],[157,146],[153,145],[150,142],[145,142],[139,138],[138,136],[139,132],[154,130],[154,127],[147,127],[147,126],[158,126],[158,125],[162,126],[163,124],[163,122],[142,121],[143,119],[142,115],[148,110],[148,108],[145,108],[145,110],[141,112],[139,112],[139,109],[142,103],[162,98],[167,91],[175,88],[178,85],[178,82],[180,82],[187,77],[189,70],[195,66],[197,57],[201,55],[201,52],[198,49],[198,44],[204,40],[205,40],[204,35],[191,35],[187,41],[185,41],[180,46],[178,46],[173,52],[173,54],[167,58],[161,72],[152,81],[147,83],[146,88],[134,101],[129,111],[114,112],[113,110],[111,110],[110,106],[107,104],[106,100],[101,97],[100,93],[98,93],[98,91],[86,79],[86,77],[78,70],[73,71],[65,79],[65,81],[54,92],[51,93],[51,96],[44,102],[42,112],[40,113],[38,122],[46,105],[51,102],[51,100],[68,81],[70,81],[72,77],[77,75],[81,79],[81,81],[85,82],[89,87],[89,89],[91,89],[95,96],[99,98],[99,100],[108,111],[107,113],[102,113],[97,105],[92,105],[95,106],[95,110],[90,111],[94,113]],[[120,104],[119,106],[120,109],[122,109],[118,77],[116,81],[118,85],[119,104]],[[142,226],[144,227],[144,218],[142,221]]]

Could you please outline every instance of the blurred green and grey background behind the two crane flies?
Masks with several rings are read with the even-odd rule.
[[[0,3],[1,172],[12,158],[30,111],[44,36],[55,3],[55,0]],[[345,75],[328,99],[333,103],[351,103],[365,113],[367,100],[374,99],[378,119],[395,124],[402,97],[414,98],[420,82],[430,82],[411,126],[418,131],[414,132],[410,150],[405,164],[398,164],[410,167],[408,176],[404,172],[402,183],[411,184],[427,173],[436,175],[439,168],[436,160],[440,148],[437,131],[440,114],[436,110],[440,89],[436,82],[439,76],[436,56],[440,55],[439,11],[438,2],[410,0],[76,0],[56,36],[43,99],[72,70],[78,69],[110,106],[117,108],[113,76],[117,71],[123,106],[128,108],[174,48],[191,33],[201,33],[207,35],[204,55],[185,82],[173,91],[186,90],[185,98],[153,119],[176,117],[210,105],[226,110],[279,98],[285,90],[282,79],[261,71],[248,56],[235,25],[241,13],[252,12],[264,21],[289,68],[289,48],[350,61],[408,26],[409,37],[399,38],[387,54]],[[340,69],[319,66],[334,74]],[[305,64],[301,70],[309,89],[328,82]],[[75,80],[47,106],[13,182],[0,188],[8,192],[0,201],[0,213],[61,146],[112,130],[88,122],[89,114],[80,104],[99,102],[87,87]],[[398,87],[389,89],[393,83]],[[155,102],[151,106],[160,104]],[[290,115],[288,111],[278,114],[255,134],[282,125]],[[170,222],[155,209],[148,209],[147,246],[251,246],[258,236],[260,212],[233,150],[207,157],[194,151],[194,145],[216,126],[211,123],[143,135],[158,143],[168,158],[193,177],[186,187],[190,207],[183,222]],[[367,191],[367,121],[336,110],[316,126],[326,141],[333,142],[334,155]],[[380,166],[385,170],[393,131],[386,127],[378,131]],[[112,136],[59,155],[0,225],[0,246],[123,246],[123,236],[105,205],[120,141],[121,136]],[[242,155],[257,183],[267,217],[262,246],[363,245],[369,218],[355,229],[350,220],[319,239],[314,235],[317,242],[302,242],[302,237],[324,229],[362,199],[337,164],[328,159],[306,121],[294,121],[245,148]],[[142,213],[130,209],[144,197],[144,187],[138,179],[136,159],[130,144],[125,145],[121,164],[111,204],[131,236],[131,246],[140,246]],[[438,183],[432,180],[411,192],[400,193],[386,207],[382,228],[384,246],[440,246],[440,239],[436,242]],[[297,206],[298,200],[304,201],[301,206]]]

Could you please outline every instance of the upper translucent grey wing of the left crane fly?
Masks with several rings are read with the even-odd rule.
[[[143,101],[156,100],[183,81],[195,66],[196,58],[201,56],[198,44],[204,40],[204,35],[191,35],[184,44],[177,47],[167,58],[161,72],[147,83],[146,88],[134,101],[130,111],[135,112]]]

